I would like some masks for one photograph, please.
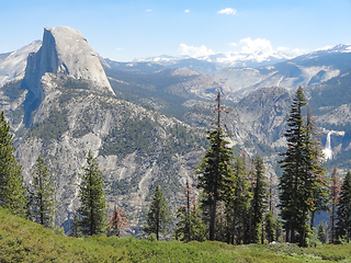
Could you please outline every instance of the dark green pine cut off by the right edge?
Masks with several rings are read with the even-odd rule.
[[[337,209],[337,237],[347,238],[350,242],[351,237],[351,172],[349,171],[343,179]]]

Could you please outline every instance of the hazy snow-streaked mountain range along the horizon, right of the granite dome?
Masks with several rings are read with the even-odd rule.
[[[253,57],[253,58],[252,58]],[[158,56],[131,62],[106,59],[113,68],[127,71],[158,71],[165,68],[188,68],[214,76],[227,83],[238,96],[268,87],[296,88],[322,83],[350,69],[351,45],[337,45],[297,57],[261,57],[238,55],[235,62],[224,54],[192,58]],[[252,60],[252,61],[253,61]]]

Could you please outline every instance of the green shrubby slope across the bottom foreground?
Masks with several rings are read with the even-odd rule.
[[[133,237],[82,239],[53,230],[0,208],[0,262],[351,262],[351,245],[302,249],[295,244],[230,245],[223,242],[149,241]]]

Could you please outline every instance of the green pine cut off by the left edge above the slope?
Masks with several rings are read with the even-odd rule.
[[[15,148],[10,134],[10,126],[0,114],[0,205],[13,215],[25,216],[26,191],[21,174],[22,167],[14,158]]]

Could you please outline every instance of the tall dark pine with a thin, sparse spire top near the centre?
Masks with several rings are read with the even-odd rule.
[[[201,164],[195,170],[195,173],[199,174],[197,187],[203,188],[207,195],[205,205],[210,207],[210,240],[215,239],[217,202],[223,199],[223,192],[228,191],[228,188],[225,190],[226,185],[230,185],[233,160],[231,149],[227,146],[229,142],[225,139],[227,136],[220,127],[220,113],[224,110],[220,105],[219,92],[216,101],[217,128],[206,132],[211,146],[206,150]]]

